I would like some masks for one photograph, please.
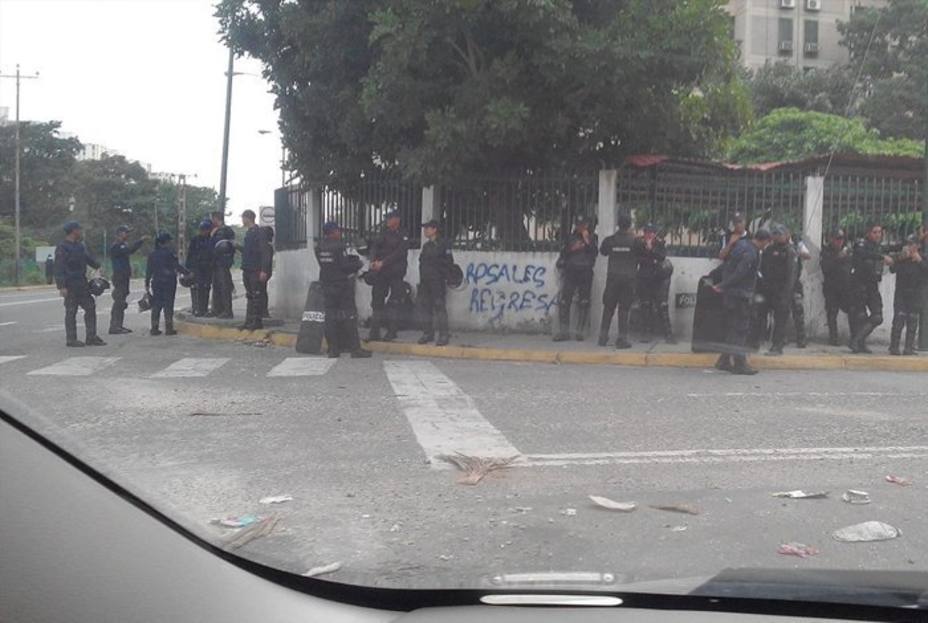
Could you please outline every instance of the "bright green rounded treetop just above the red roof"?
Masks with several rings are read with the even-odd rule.
[[[735,140],[733,162],[801,160],[831,153],[919,157],[923,144],[911,139],[883,139],[861,119],[780,108],[760,119]]]

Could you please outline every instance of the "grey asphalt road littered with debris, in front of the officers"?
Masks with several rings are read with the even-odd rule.
[[[0,293],[0,391],[28,407],[18,415],[217,542],[235,531],[211,519],[275,515],[237,551],[290,571],[340,562],[327,578],[449,587],[541,571],[928,570],[924,375],[332,362],[149,337],[133,307],[134,334],[76,350],[62,315],[53,291]],[[468,486],[436,458],[456,451],[520,458]],[[830,493],[771,496],[792,489]],[[873,501],[846,504],[846,489]],[[603,510],[591,494],[638,508]],[[651,508],[678,504],[699,514]],[[831,537],[868,520],[902,536]],[[820,554],[777,553],[793,541]]]

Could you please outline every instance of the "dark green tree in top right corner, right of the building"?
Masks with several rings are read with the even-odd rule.
[[[838,25],[861,69],[861,114],[885,136],[928,134],[928,2],[890,0]],[[872,39],[872,42],[871,42]]]

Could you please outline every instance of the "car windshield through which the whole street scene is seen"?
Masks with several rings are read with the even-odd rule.
[[[926,59],[914,0],[0,0],[0,400],[297,575],[867,603]]]

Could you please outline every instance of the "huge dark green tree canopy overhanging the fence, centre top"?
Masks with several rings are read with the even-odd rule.
[[[350,187],[712,155],[748,115],[719,0],[221,0],[291,163]]]

